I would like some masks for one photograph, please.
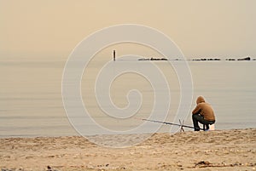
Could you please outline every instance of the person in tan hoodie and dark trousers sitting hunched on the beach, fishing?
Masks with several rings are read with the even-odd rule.
[[[192,119],[194,124],[194,130],[200,131],[198,123],[203,124],[209,130],[209,125],[215,123],[214,111],[212,106],[204,100],[202,96],[199,96],[196,100],[195,109],[192,111]]]

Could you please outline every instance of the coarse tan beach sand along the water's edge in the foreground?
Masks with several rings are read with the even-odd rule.
[[[143,135],[119,135],[138,140]],[[115,143],[119,136],[95,136]],[[2,170],[255,170],[256,128],[154,134],[109,148],[83,137],[0,139]],[[49,166],[49,168],[47,168]]]

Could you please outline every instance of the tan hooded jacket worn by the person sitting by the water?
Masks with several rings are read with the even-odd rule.
[[[192,111],[192,114],[200,114],[207,121],[215,121],[214,112],[212,106],[207,104],[202,96],[199,96],[196,100],[195,109]]]

